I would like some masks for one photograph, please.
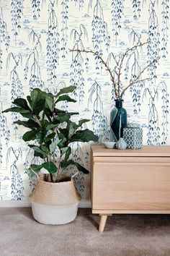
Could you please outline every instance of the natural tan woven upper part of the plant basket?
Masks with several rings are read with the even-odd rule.
[[[81,200],[81,196],[76,192],[71,177],[65,177],[68,182],[45,182],[48,174],[42,174],[37,182],[35,191],[30,195],[31,202],[40,205],[72,205]]]

